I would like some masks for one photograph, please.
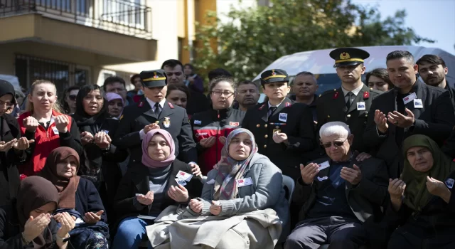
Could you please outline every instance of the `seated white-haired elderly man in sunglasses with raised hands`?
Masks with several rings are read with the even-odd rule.
[[[387,199],[387,166],[373,157],[356,161],[354,136],[343,122],[324,124],[319,135],[328,158],[300,164],[293,200],[304,206],[284,247],[358,248],[366,239],[363,223],[380,215]]]

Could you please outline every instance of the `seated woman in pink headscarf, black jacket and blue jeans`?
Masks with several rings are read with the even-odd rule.
[[[152,129],[142,140],[142,160],[129,166],[115,197],[114,209],[122,219],[114,248],[138,248],[146,237],[145,227],[164,208],[186,205],[190,196],[200,196],[202,184],[191,177],[200,174],[199,169],[193,171],[176,159],[175,149],[171,134],[164,129]]]

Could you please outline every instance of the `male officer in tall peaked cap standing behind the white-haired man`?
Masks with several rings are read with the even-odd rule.
[[[334,68],[341,79],[341,88],[323,92],[316,101],[317,131],[327,122],[340,121],[348,124],[354,135],[353,151],[369,152],[363,143],[363,131],[367,125],[373,99],[382,92],[368,88],[362,82],[365,73],[363,60],[370,54],[359,48],[337,48],[330,53],[335,60]],[[374,115],[374,111],[371,115]]]

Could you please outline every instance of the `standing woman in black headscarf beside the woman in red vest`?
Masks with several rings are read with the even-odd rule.
[[[110,118],[107,101],[98,85],[85,85],[77,92],[74,119],[79,127],[83,155],[79,175],[95,184],[109,219],[114,219],[111,208],[117,184],[122,179],[119,162],[127,158],[127,151],[111,144],[119,120]]]

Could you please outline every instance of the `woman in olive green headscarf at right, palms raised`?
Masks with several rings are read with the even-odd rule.
[[[420,134],[405,139],[403,153],[402,176],[389,184],[388,248],[455,248],[455,161]]]

